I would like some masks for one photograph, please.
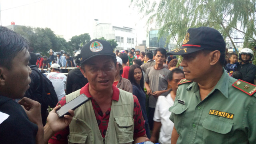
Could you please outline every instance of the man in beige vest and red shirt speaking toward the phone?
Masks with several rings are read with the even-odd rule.
[[[83,46],[80,70],[89,83],[59,104],[80,94],[90,100],[75,110],[69,130],[56,133],[49,143],[132,144],[148,140],[138,99],[113,85],[117,68],[109,42],[92,40]]]

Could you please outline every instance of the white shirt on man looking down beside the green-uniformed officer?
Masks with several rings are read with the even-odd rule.
[[[156,109],[154,113],[153,120],[155,122],[161,122],[161,130],[159,134],[159,142],[161,144],[170,144],[172,129],[174,123],[169,119],[171,112],[169,112],[169,108],[173,106],[174,101],[172,100],[171,94],[165,96],[158,96],[158,100],[156,102]]]

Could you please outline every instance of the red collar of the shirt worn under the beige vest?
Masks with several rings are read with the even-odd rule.
[[[112,85],[113,94],[112,94],[112,100],[119,100],[119,89]],[[85,94],[88,98],[92,98],[90,92],[89,92],[89,83],[87,83],[84,87],[81,88],[80,94]]]

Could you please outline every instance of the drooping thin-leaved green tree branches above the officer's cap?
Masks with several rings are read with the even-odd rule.
[[[220,31],[224,39],[234,31],[244,34],[244,47],[248,41],[256,42],[256,0],[131,0],[148,26],[154,22],[158,37],[168,33],[166,43],[174,41],[181,46],[188,28],[208,26]]]

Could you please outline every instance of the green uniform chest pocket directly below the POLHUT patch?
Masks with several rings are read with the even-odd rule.
[[[229,132],[232,130],[234,122],[224,121],[223,118],[209,116],[202,126],[204,127],[203,140],[209,144],[221,144],[226,142],[228,144]]]

